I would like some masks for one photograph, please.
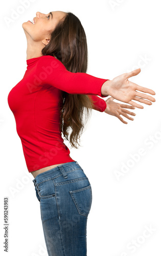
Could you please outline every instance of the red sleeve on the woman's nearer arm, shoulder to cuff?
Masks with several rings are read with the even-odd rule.
[[[102,79],[86,73],[73,73],[66,70],[62,62],[53,56],[42,56],[37,63],[36,73],[41,84],[50,84],[70,94],[89,94],[107,97],[101,94]]]

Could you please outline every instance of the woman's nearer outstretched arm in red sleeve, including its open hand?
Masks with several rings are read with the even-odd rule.
[[[73,73],[67,71],[65,66],[53,56],[42,56],[37,63],[36,75],[41,85],[50,84],[70,94],[88,94],[106,97],[129,103],[136,108],[143,109],[143,106],[132,101],[132,99],[151,105],[155,99],[147,94],[155,95],[151,89],[138,86],[130,82],[128,78],[140,73],[140,69],[130,73],[122,74],[113,80],[102,79],[86,73]],[[137,96],[137,97],[136,97]],[[141,97],[141,98],[140,98]],[[148,100],[145,100],[145,99]]]

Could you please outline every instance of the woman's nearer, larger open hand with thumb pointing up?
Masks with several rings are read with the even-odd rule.
[[[155,99],[147,94],[149,93],[155,95],[155,92],[151,89],[138,86],[136,83],[130,82],[128,78],[131,76],[135,76],[141,72],[141,69],[136,69],[129,73],[124,73],[120,76],[113,78],[113,80],[107,80],[103,83],[101,87],[101,93],[103,96],[112,96],[114,99],[120,100],[125,103],[129,103],[132,106],[136,106],[136,108],[144,109],[144,107],[140,104],[135,103],[133,100],[140,101],[147,105],[151,105],[151,101],[155,101]],[[136,92],[141,91],[144,93]]]

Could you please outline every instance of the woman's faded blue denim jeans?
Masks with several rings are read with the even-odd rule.
[[[33,180],[49,256],[86,256],[91,185],[77,161],[58,165]]]

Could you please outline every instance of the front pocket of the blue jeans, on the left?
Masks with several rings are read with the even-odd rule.
[[[55,197],[55,187],[53,180],[43,181],[37,185],[37,193],[41,198],[52,198]]]

